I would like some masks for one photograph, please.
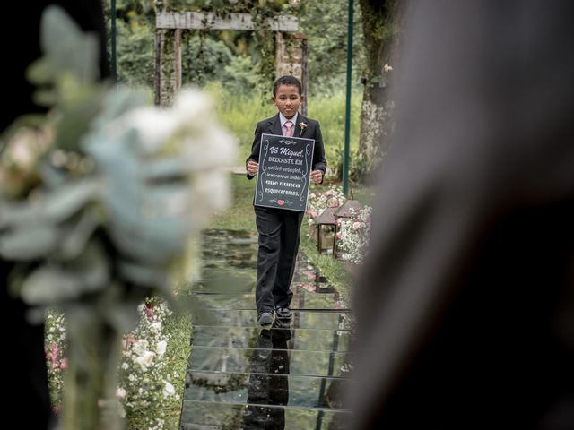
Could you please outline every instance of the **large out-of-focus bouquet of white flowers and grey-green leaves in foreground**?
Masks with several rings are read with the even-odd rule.
[[[2,136],[0,256],[16,262],[14,293],[65,312],[62,427],[121,428],[98,409],[115,391],[121,335],[145,297],[170,299],[190,240],[229,200],[221,167],[236,143],[204,92],[182,90],[161,110],[142,91],[97,82],[96,37],[57,6],[41,34],[30,81],[51,109]]]

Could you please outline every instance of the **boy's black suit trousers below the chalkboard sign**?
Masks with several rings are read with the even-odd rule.
[[[303,212],[254,206],[259,252],[257,255],[257,314],[275,306],[289,307],[295,258],[299,249]]]

